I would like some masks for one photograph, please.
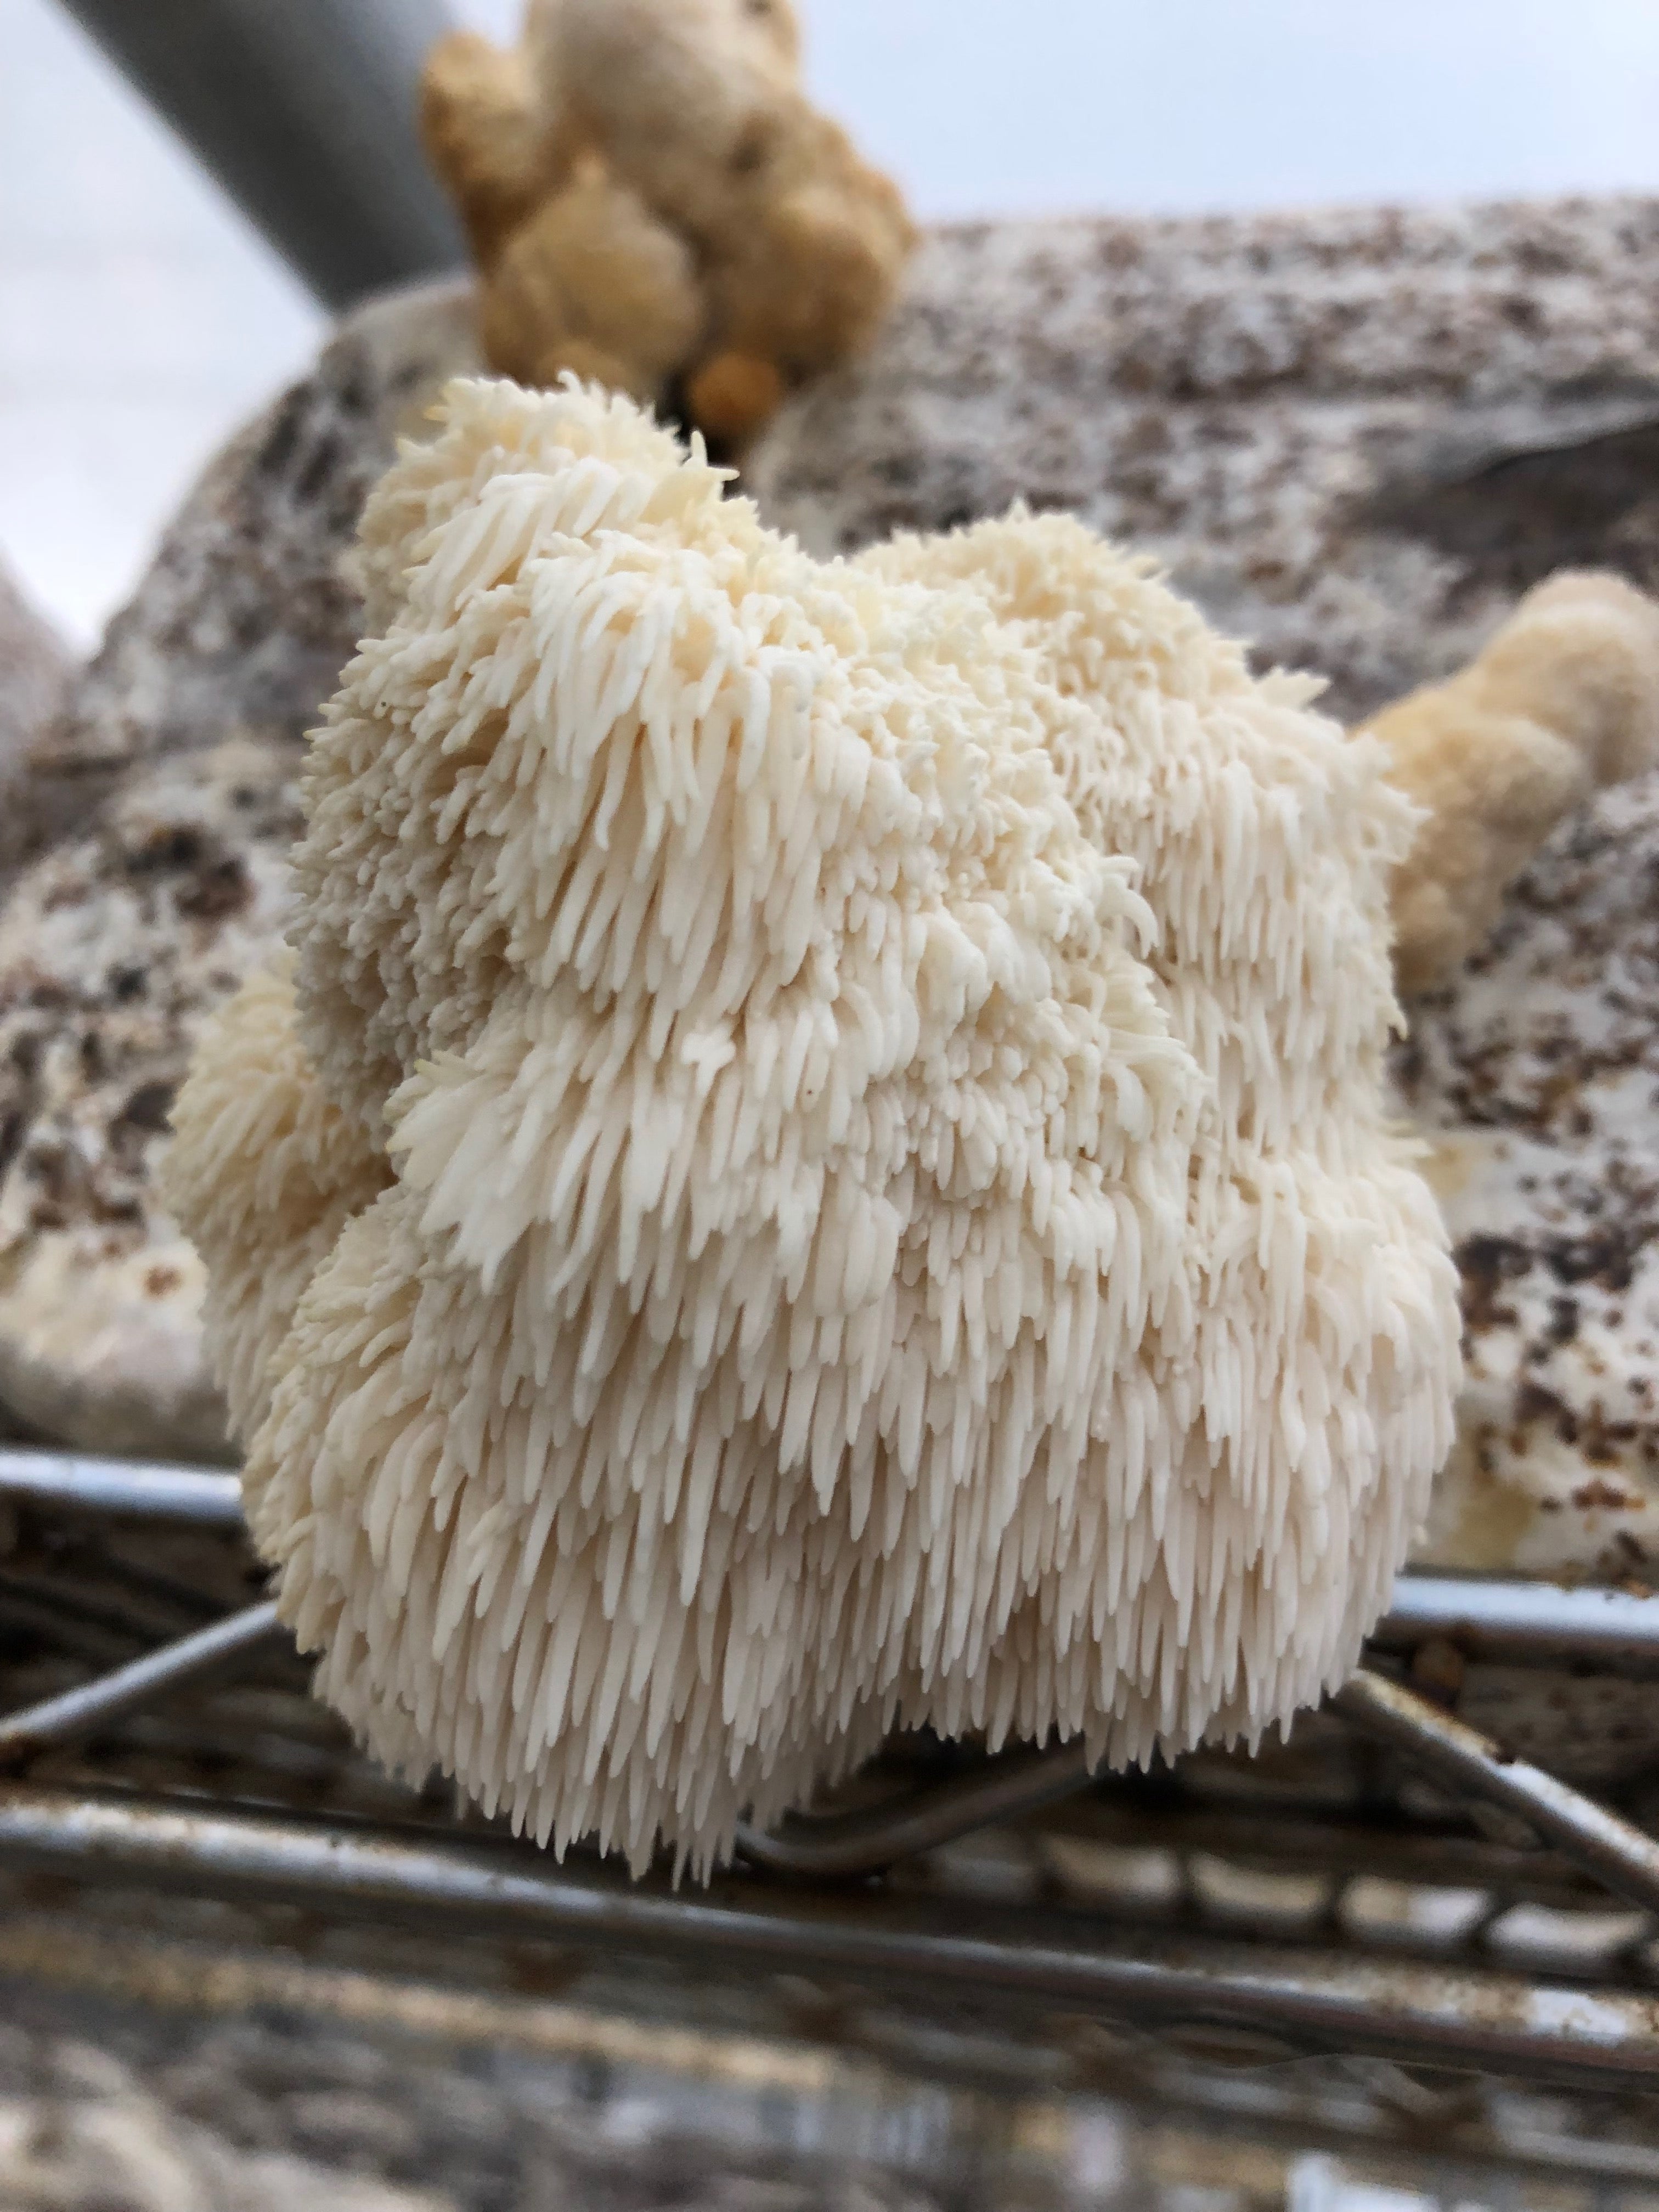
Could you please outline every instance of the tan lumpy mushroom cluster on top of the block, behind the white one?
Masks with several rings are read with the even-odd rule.
[[[491,367],[672,396],[730,451],[869,347],[916,248],[787,0],[531,0],[511,51],[438,40],[420,124]]]

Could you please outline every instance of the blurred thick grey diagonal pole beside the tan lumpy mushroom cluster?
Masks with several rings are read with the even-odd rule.
[[[334,310],[456,268],[416,131],[445,0],[62,0]]]

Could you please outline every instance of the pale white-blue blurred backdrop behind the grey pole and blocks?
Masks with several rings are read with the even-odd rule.
[[[803,4],[925,215],[1659,190],[1659,0]],[[53,0],[0,58],[0,553],[88,644],[321,321]]]

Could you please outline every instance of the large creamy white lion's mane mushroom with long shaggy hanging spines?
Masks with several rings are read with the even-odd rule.
[[[1077,522],[818,564],[586,389],[453,385],[363,531],[170,1168],[323,1694],[703,1871],[894,1723],[1336,1683],[1458,1376],[1380,748]]]

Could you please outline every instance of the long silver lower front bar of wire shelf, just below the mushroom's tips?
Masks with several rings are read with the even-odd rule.
[[[0,1787],[0,1856],[11,1863],[192,1893],[305,1905],[349,1918],[456,1933],[714,1958],[754,1971],[821,1971],[929,1991],[947,2004],[1026,2002],[1137,2031],[1208,2026],[1281,2051],[1347,2051],[1595,2088],[1659,2088],[1652,2002],[1533,1989],[1500,1973],[1343,1962],[1254,1947],[1117,1944],[1077,1916],[975,1913],[849,1893],[796,1902],[761,1882],[675,1891],[606,1869],[551,1869],[513,1845],[400,1829],[283,1820],[252,1812]]]

